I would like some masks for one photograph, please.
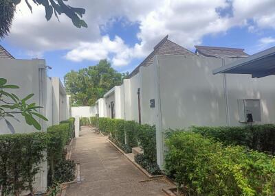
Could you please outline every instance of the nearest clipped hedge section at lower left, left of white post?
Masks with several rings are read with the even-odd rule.
[[[34,176],[39,172],[46,146],[43,132],[0,135],[1,195],[19,195],[25,190],[33,192]]]

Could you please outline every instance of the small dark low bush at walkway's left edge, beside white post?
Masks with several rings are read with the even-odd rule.
[[[48,175],[50,175],[50,173],[52,173],[52,171],[49,171]],[[54,182],[51,181],[52,177],[48,176],[48,184],[71,182],[75,178],[75,173],[76,163],[74,160],[61,159],[57,164],[54,165]]]

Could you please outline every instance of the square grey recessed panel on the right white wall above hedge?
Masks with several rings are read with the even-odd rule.
[[[239,122],[261,121],[261,99],[238,99]]]

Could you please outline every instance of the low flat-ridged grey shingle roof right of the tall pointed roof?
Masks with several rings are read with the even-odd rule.
[[[206,46],[195,46],[195,48],[195,53],[201,56],[210,56],[217,58],[243,58],[249,56],[247,53],[244,52],[244,49]]]

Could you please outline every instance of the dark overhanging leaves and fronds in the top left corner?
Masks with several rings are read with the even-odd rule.
[[[43,5],[45,8],[45,18],[49,21],[54,14],[58,19],[58,15],[65,14],[72,20],[72,23],[80,28],[87,27],[87,23],[80,19],[85,14],[85,9],[83,8],[73,8],[64,3],[67,0],[30,0],[36,5]],[[12,25],[12,19],[14,17],[14,12],[16,11],[16,6],[21,3],[21,0],[0,0],[0,38],[7,36],[10,33],[10,26]],[[25,0],[25,3],[30,8],[32,12],[32,5],[30,5],[29,0]]]

